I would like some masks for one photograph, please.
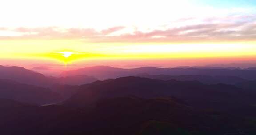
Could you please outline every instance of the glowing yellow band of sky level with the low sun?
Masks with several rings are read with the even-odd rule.
[[[256,42],[238,43],[84,43],[80,40],[2,40],[2,58],[65,60],[60,52],[73,52],[72,60],[91,58],[211,58],[256,56]]]

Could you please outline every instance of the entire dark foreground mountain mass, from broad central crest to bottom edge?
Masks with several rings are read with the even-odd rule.
[[[78,90],[63,105],[5,103],[0,134],[256,134],[256,96],[232,85],[130,76],[69,88]]]

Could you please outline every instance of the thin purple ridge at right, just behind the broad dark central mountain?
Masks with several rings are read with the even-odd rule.
[[[160,79],[160,80],[178,80],[178,81],[200,81],[204,84],[236,84],[247,81],[236,76],[207,76],[207,75],[149,75],[149,74],[138,74],[134,76],[151,78],[151,79]]]

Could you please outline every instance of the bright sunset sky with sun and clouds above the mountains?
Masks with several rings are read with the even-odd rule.
[[[256,0],[2,0],[3,65],[256,60]]]

